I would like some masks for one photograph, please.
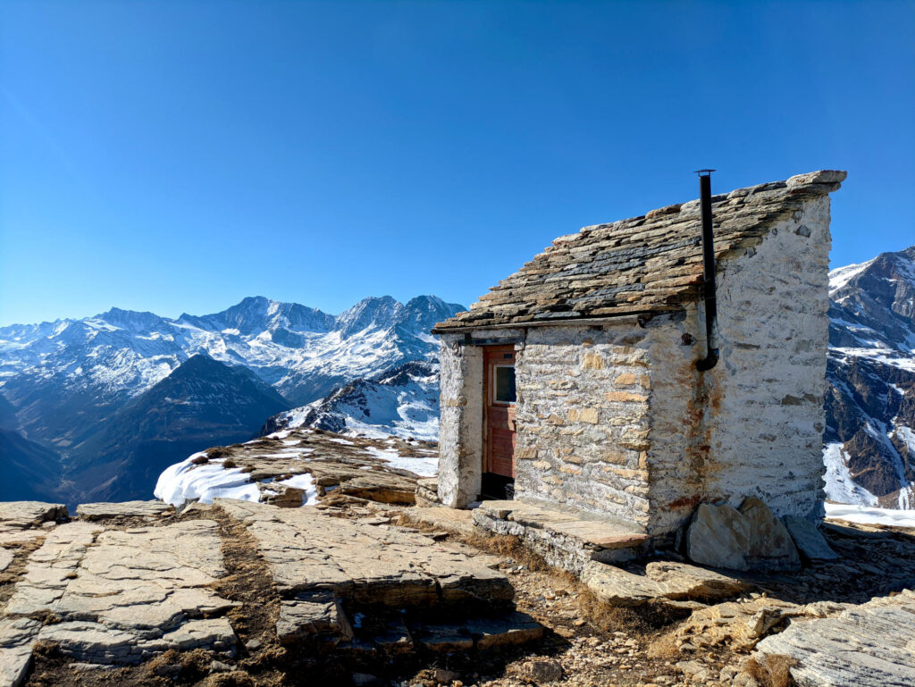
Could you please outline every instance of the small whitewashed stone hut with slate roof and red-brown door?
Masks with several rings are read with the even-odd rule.
[[[696,365],[699,200],[561,236],[437,324],[438,499],[514,499],[651,542],[701,502],[756,496],[818,517],[829,193],[844,179],[819,171],[711,198],[711,370]]]

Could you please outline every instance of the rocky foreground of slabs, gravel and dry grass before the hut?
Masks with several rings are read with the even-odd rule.
[[[468,511],[340,492],[0,504],[0,685],[915,683],[912,531],[827,523],[840,558],[791,573],[606,566],[610,605]]]

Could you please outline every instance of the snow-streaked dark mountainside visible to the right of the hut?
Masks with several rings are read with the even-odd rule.
[[[827,497],[915,509],[915,246],[829,277]]]

